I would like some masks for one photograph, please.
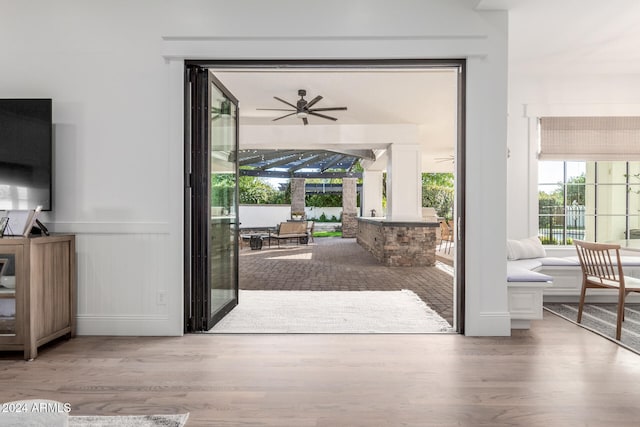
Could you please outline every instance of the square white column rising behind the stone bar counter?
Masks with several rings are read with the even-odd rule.
[[[421,221],[422,150],[417,144],[391,144],[387,153],[387,219]]]

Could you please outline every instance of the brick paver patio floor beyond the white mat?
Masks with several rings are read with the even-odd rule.
[[[246,290],[393,291],[409,289],[453,325],[453,277],[437,267],[386,267],[355,239],[316,238],[308,245],[246,245],[240,251]]]

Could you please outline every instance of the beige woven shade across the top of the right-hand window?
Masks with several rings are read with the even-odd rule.
[[[640,160],[640,117],[541,117],[541,160]]]

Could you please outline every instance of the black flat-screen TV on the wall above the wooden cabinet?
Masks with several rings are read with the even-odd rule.
[[[51,99],[0,99],[0,210],[52,208]]]

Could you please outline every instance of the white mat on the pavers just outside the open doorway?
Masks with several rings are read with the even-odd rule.
[[[454,332],[414,292],[245,291],[209,333]]]

